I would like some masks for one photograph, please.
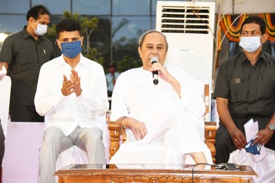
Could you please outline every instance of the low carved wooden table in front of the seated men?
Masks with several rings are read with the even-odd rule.
[[[175,165],[175,164],[174,164]],[[190,182],[192,183],[192,167],[190,165],[172,164],[129,164],[121,167],[117,164],[71,164],[54,175],[58,183],[72,182]],[[119,169],[118,169],[119,167]],[[252,182],[257,174],[249,166],[240,166],[236,170],[194,170],[193,182]]]

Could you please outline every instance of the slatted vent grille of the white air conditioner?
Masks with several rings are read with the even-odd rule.
[[[208,34],[210,7],[162,6],[162,32]]]

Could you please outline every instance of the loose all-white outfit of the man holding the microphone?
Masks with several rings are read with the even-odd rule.
[[[141,163],[150,145],[162,145],[163,163],[175,163],[175,154],[207,151],[200,120],[205,112],[203,84],[176,66],[168,66],[167,70],[181,84],[181,99],[173,86],[161,78],[159,84],[153,84],[152,73],[142,67],[118,77],[112,96],[111,121],[133,117],[145,123],[147,134],[136,141],[133,132],[127,129],[127,140],[110,163]],[[151,157],[154,159],[155,154]]]

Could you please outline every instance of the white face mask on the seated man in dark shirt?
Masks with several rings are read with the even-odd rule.
[[[262,45],[260,38],[260,36],[241,37],[240,46],[243,47],[245,51],[248,51],[248,53],[253,53]]]

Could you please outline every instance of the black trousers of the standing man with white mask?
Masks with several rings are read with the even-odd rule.
[[[35,110],[35,106],[10,105],[10,121],[44,122]]]

